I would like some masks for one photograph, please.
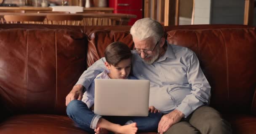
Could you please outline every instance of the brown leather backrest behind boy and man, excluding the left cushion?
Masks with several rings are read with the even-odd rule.
[[[240,25],[179,27],[165,27],[166,39],[170,44],[186,46],[197,54],[212,87],[211,106],[224,113],[250,112],[256,87],[255,28]],[[113,41],[133,47],[129,31],[92,31],[88,33],[88,41],[88,67],[104,57],[104,49]]]

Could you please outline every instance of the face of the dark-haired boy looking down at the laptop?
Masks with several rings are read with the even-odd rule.
[[[105,62],[111,79],[127,79],[131,72],[131,58],[121,60],[116,66]]]

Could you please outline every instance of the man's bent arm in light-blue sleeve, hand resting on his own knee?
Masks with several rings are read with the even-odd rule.
[[[160,134],[181,121],[183,117],[187,118],[196,108],[210,102],[211,86],[205,78],[194,52],[188,57],[187,63],[187,79],[192,86],[191,94],[187,95],[175,110],[162,117],[158,124]]]

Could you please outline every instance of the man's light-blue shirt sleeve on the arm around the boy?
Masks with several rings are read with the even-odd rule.
[[[88,89],[88,87],[93,82],[94,78],[101,72],[103,72],[106,67],[104,65],[104,62],[106,61],[105,57],[97,60],[95,63],[91,65],[91,67],[88,67],[87,70],[83,72],[83,74],[80,76],[79,80],[75,85],[83,85],[85,89]]]

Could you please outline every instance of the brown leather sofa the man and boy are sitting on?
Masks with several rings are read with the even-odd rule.
[[[65,97],[113,41],[131,48],[129,26],[0,25],[0,134],[86,134],[66,115]],[[211,106],[235,134],[256,133],[256,29],[243,25],[165,27],[192,49],[212,87]]]

